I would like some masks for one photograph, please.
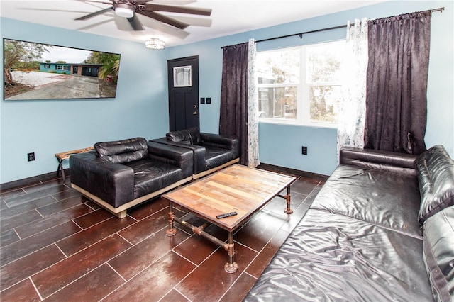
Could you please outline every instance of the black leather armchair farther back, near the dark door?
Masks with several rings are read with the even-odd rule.
[[[238,138],[201,133],[196,127],[172,131],[167,133],[165,138],[157,138],[150,142],[192,150],[194,155],[193,179],[204,177],[240,160],[240,140]]]

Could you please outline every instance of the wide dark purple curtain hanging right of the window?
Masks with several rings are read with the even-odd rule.
[[[426,150],[431,11],[368,22],[365,148]]]

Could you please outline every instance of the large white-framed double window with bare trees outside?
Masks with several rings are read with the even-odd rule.
[[[260,121],[336,127],[345,41],[258,52]]]

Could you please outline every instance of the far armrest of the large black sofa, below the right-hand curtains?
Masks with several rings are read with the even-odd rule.
[[[341,164],[353,164],[407,175],[416,175],[415,160],[416,155],[353,147],[342,147],[340,154]]]

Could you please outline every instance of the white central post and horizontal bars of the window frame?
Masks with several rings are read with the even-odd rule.
[[[265,50],[263,52],[276,52],[279,50],[292,50],[298,48],[300,50],[300,82],[298,84],[289,83],[289,84],[257,84],[258,88],[279,88],[287,86],[297,86],[297,118],[295,119],[278,119],[278,118],[259,118],[260,122],[263,123],[275,123],[282,125],[304,125],[309,127],[318,127],[318,128],[337,128],[338,123],[329,123],[329,122],[316,122],[311,121],[310,119],[310,99],[309,99],[309,87],[310,86],[341,86],[340,82],[316,82],[316,83],[307,83],[308,75],[308,65],[306,64],[306,50],[308,47],[329,44],[329,43],[338,43],[342,40],[328,41],[323,43],[316,43],[312,45],[302,45],[298,47],[286,47],[276,50]],[[345,40],[344,40],[345,41]]]

